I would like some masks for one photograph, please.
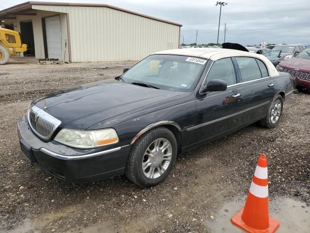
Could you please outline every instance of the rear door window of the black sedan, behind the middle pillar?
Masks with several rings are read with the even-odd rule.
[[[241,72],[242,82],[262,78],[260,68],[252,57],[236,57]]]

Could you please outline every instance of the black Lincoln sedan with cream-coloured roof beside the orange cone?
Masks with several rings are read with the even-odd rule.
[[[23,154],[71,183],[162,182],[179,153],[260,121],[279,124],[293,83],[263,55],[186,49],[35,100],[17,123]]]

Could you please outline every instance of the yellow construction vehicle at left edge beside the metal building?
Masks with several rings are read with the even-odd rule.
[[[0,27],[0,65],[8,62],[9,57],[17,52],[27,51],[27,45],[22,44],[18,32]]]

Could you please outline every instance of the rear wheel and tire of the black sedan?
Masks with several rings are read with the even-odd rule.
[[[283,111],[283,98],[278,95],[269,105],[266,116],[259,121],[264,128],[275,128],[280,121]]]

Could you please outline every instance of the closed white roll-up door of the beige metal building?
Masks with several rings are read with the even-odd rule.
[[[60,16],[45,18],[47,58],[62,61],[62,31]]]

